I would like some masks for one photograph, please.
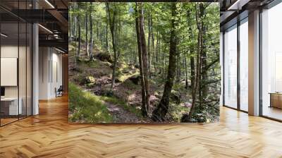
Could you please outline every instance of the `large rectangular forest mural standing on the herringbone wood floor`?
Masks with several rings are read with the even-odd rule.
[[[219,4],[69,5],[69,121],[219,120]]]

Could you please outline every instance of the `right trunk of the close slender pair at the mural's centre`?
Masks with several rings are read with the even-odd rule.
[[[144,74],[144,83],[145,83],[145,91],[146,91],[146,109],[149,108],[149,66],[148,66],[148,54],[146,48],[146,39],[145,39],[145,31],[144,31],[144,16],[143,16],[143,8],[142,2],[140,2],[140,10],[139,10],[139,28],[140,28],[140,38],[141,38],[141,46],[142,46],[142,61],[143,61],[143,74]]]

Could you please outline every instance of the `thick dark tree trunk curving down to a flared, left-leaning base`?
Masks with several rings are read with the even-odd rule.
[[[171,17],[176,16],[176,3],[171,5]],[[176,21],[174,18],[171,19],[171,39],[170,39],[170,50],[169,50],[169,63],[168,63],[168,75],[166,78],[166,84],[164,86],[163,96],[161,97],[161,102],[159,102],[156,109],[154,109],[152,114],[152,119],[154,121],[164,121],[166,113],[169,107],[169,97],[171,95],[171,89],[173,87],[173,80],[176,73]]]

